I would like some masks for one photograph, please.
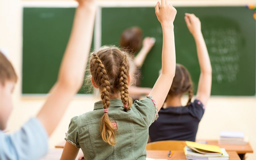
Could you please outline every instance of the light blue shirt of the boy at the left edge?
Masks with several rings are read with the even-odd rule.
[[[46,155],[48,134],[37,118],[31,118],[17,132],[0,132],[1,160],[37,160]]]

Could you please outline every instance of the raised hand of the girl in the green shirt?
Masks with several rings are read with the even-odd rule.
[[[157,2],[155,6],[156,16],[161,25],[172,24],[176,16],[176,9],[167,2],[167,0],[161,0],[160,3]]]

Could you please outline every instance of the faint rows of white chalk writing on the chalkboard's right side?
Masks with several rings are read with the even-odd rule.
[[[203,30],[212,63],[213,81],[230,83],[239,72],[239,36],[236,28]]]

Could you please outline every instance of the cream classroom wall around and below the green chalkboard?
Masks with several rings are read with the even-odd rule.
[[[226,0],[226,2],[233,3],[240,1]],[[255,0],[246,0],[246,2],[256,3]],[[0,1],[0,48],[1,47],[7,49],[9,57],[20,77],[13,93],[14,109],[8,125],[8,128],[14,131],[24,124],[29,117],[36,115],[45,100],[44,98],[23,98],[20,94],[22,75],[22,10],[20,0]],[[53,148],[54,145],[64,140],[70,118],[91,111],[95,101],[96,99],[91,97],[83,97],[75,98],[70,103],[61,123],[50,137],[50,148]],[[186,98],[184,98],[184,102],[185,101]],[[205,115],[200,123],[197,139],[217,139],[219,132],[224,130],[242,131],[249,137],[250,143],[255,151],[254,154],[247,154],[248,160],[255,160],[255,113],[256,97],[211,97],[207,104]]]

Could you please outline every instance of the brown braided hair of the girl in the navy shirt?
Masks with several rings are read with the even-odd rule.
[[[185,93],[188,93],[187,105],[189,105],[193,97],[193,83],[187,68],[181,64],[176,64],[175,76],[168,95],[175,96]]]

